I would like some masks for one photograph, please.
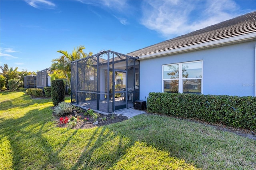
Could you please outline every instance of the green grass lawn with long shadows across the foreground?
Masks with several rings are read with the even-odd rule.
[[[24,92],[1,92],[0,99],[0,169],[256,169],[256,140],[231,132],[146,114],[60,128],[51,99]]]

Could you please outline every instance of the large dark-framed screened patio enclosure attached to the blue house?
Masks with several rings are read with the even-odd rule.
[[[71,103],[106,113],[139,99],[139,61],[103,51],[71,63]]]

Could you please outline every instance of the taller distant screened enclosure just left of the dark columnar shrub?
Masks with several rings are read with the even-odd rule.
[[[44,69],[36,72],[36,87],[44,89],[44,87],[51,86],[51,78],[49,74],[52,73],[50,69]]]

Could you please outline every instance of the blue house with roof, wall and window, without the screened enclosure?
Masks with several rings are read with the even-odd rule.
[[[127,55],[140,60],[140,99],[149,92],[256,96],[256,12]]]

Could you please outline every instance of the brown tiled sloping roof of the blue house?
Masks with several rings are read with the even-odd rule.
[[[127,55],[139,57],[252,32],[256,32],[256,11],[130,52]]]

